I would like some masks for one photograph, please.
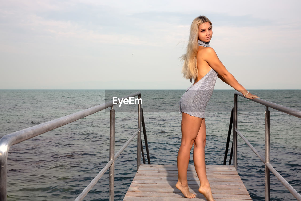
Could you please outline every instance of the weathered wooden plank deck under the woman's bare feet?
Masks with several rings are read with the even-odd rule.
[[[206,165],[206,173],[216,201],[251,201],[251,197],[233,165]],[[141,164],[124,201],[137,200],[204,200],[199,193],[200,181],[194,165],[188,166],[188,187],[195,198],[185,198],[175,187],[178,180],[177,165],[144,165]]]

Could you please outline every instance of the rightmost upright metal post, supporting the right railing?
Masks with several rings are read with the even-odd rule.
[[[267,167],[266,163],[270,162],[270,110],[268,106],[265,110],[265,126],[264,126],[264,158],[265,158],[265,169],[264,169],[264,185],[265,185],[265,201],[271,200],[270,192],[270,169]]]

